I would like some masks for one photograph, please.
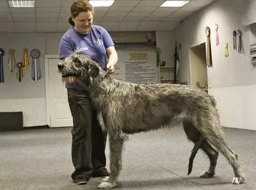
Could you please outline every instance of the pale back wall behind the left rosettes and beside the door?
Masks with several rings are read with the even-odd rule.
[[[0,45],[5,51],[4,62],[4,83],[0,83],[0,112],[22,111],[24,115],[24,127],[46,125],[46,104],[45,104],[45,54],[58,54],[60,38],[63,33],[0,33]],[[157,46],[162,49],[161,59],[173,65],[173,33],[159,31],[156,33]],[[22,61],[22,50],[39,49],[40,67],[42,79],[31,80],[31,58],[29,55],[28,70],[23,70],[24,77],[19,83],[15,72],[8,70],[8,50],[15,49],[16,62]]]

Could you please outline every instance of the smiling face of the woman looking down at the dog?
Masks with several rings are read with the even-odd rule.
[[[88,12],[81,12],[79,15],[77,15],[76,18],[72,18],[75,22],[75,28],[79,33],[86,34],[89,32],[91,26],[92,26],[92,20],[93,20],[93,13]]]

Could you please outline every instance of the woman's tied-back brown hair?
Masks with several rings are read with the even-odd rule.
[[[72,4],[70,7],[71,16],[76,18],[79,13],[81,12],[92,12],[93,13],[93,6],[86,0],[79,0]],[[72,17],[68,18],[68,23],[72,26],[75,26],[74,21],[72,20]]]

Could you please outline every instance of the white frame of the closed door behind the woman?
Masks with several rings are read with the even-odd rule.
[[[46,123],[51,127],[51,100],[50,97],[50,85],[49,85],[49,59],[59,59],[58,54],[45,54],[44,65],[45,65],[45,106],[46,106]]]

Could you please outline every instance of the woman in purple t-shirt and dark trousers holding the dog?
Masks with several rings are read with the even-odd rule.
[[[65,59],[72,52],[87,54],[111,74],[118,56],[108,31],[92,25],[93,6],[88,1],[79,0],[72,4],[70,12],[68,22],[72,28],[61,38],[60,59]],[[66,88],[74,123],[71,133],[75,170],[71,177],[76,184],[87,184],[90,177],[109,176],[105,155],[107,136],[99,127],[88,91],[77,86],[72,78],[67,79]]]

